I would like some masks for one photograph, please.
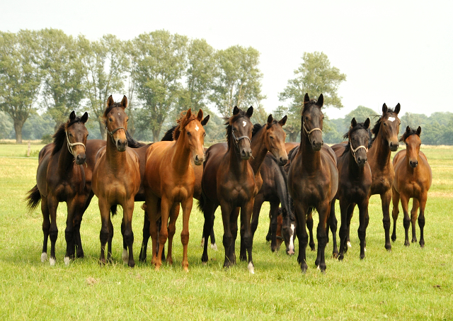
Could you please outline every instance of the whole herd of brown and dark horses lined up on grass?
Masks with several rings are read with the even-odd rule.
[[[211,239],[212,247],[217,247],[213,224],[215,210],[220,206],[224,226],[224,267],[236,264],[235,241],[240,229],[239,258],[248,261],[248,271],[254,273],[253,236],[261,205],[265,201],[270,202],[270,227],[266,239],[271,241],[272,251],[284,241],[287,254],[294,254],[294,237],[297,237],[297,261],[303,272],[308,268],[307,244],[311,250],[316,249],[314,210],[319,214],[315,264],[321,271],[326,271],[325,249],[329,242],[329,230],[332,232],[333,256],[343,259],[347,252],[355,205],[359,208],[360,258],[365,257],[368,202],[374,194],[381,196],[386,249],[391,250],[392,199],[394,230],[391,240],[396,240],[398,202],[401,200],[405,244],[410,244],[410,223],[412,242],[417,241],[415,221],[418,217],[420,247],[424,247],[424,210],[432,174],[425,154],[420,152],[421,128],[406,128],[399,140],[406,144],[406,150],[399,151],[392,163],[391,152],[398,149],[399,104],[394,109],[384,104],[382,116],[373,128],[369,118],[364,123],[357,123],[353,118],[350,130],[344,136],[347,141],[331,147],[323,144],[322,107],[322,94],[318,99],[305,95],[300,143],[285,142],[283,126],[287,116],[275,120],[270,115],[264,125],[253,125],[253,107],[247,111],[234,107],[232,116],[225,118],[226,143],[214,144],[207,150],[203,147],[204,126],[210,116],[203,118],[201,110],[196,115],[190,109],[181,113],[177,124],[168,130],[163,140],[149,145],[135,141],[127,132],[126,96],[120,103],[113,101],[112,96],[108,98],[103,114],[108,133],[106,141],[87,140],[85,123],[88,113],[78,117],[73,111],[67,123],[62,124],[53,136],[53,142],[40,151],[37,183],[27,196],[30,210],[41,202],[44,234],[41,260],[47,261],[47,241],[50,238],[50,265],[56,262],[56,213],[59,202],[66,202],[68,210],[64,263],[69,264],[70,259],[75,257],[84,257],[80,225],[94,195],[98,198],[101,213],[101,264],[112,260],[111,217],[116,214],[117,205],[121,205],[122,259],[131,267],[135,265],[132,213],[136,201],[144,201],[139,259],[147,259],[151,237],[151,264],[155,269],[159,269],[165,259],[164,245],[167,240],[166,261],[173,263],[173,236],[182,208],[182,265],[188,271],[189,217],[194,198],[205,218],[202,230],[204,264],[208,261],[208,240]],[[409,198],[413,198],[410,217]],[[340,202],[341,218],[339,250],[336,242],[336,200]]]

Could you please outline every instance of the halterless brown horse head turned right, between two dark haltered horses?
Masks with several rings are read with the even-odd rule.
[[[274,120],[272,115],[268,117],[265,125],[265,146],[277,159],[279,165],[285,165],[288,161],[288,154],[285,149],[286,134],[282,126],[285,125],[287,116],[280,120]]]

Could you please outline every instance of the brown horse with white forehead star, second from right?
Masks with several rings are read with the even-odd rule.
[[[374,124],[372,128],[372,145],[369,147],[367,159],[372,174],[372,185],[369,191],[369,196],[379,194],[382,203],[382,225],[384,225],[385,233],[385,248],[391,251],[390,243],[390,201],[391,201],[391,186],[394,182],[395,171],[391,164],[391,152],[398,150],[398,133],[401,121],[398,118],[398,113],[401,109],[398,103],[394,109],[387,108],[386,104],[382,106],[382,116]],[[345,145],[336,145],[335,152],[343,152]],[[341,151],[337,151],[337,149]],[[352,218],[354,206],[348,208],[348,218]],[[331,230],[336,227],[331,221]],[[347,244],[350,246],[350,233],[348,231]]]

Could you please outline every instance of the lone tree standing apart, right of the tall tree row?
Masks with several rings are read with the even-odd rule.
[[[289,101],[288,106],[279,106],[276,112],[287,115],[285,130],[289,133],[289,140],[296,140],[300,132],[300,111],[306,93],[310,97],[324,96],[324,106],[342,108],[341,97],[338,96],[338,86],[346,80],[346,75],[340,69],[331,67],[328,57],[323,52],[304,52],[302,63],[294,70],[294,79],[288,80],[285,90],[279,95],[280,101]]]

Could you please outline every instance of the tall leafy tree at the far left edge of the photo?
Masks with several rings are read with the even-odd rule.
[[[0,110],[13,119],[16,142],[22,143],[22,128],[33,112],[41,83],[38,35],[19,30],[0,32]]]

